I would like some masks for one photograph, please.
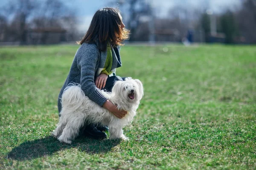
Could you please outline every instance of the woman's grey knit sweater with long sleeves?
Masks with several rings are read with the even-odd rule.
[[[115,68],[121,67],[121,59],[119,55],[119,47],[111,48],[113,56],[114,74]],[[70,68],[70,72],[67,79],[61,88],[58,96],[58,110],[61,109],[61,96],[64,89],[70,82],[78,83],[81,85],[81,89],[85,95],[89,97],[93,102],[102,106],[107,98],[96,87],[94,80],[99,75],[100,65],[104,65],[107,57],[107,51],[99,51],[96,44],[83,43],[76,51],[76,55],[73,59],[73,63]]]

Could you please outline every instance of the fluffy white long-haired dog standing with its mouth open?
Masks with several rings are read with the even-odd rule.
[[[61,117],[52,136],[60,142],[71,144],[79,134],[80,128],[86,123],[100,123],[109,127],[109,139],[127,139],[122,127],[132,122],[136,110],[143,97],[143,85],[138,79],[126,78],[125,81],[116,81],[112,93],[102,91],[109,101],[119,110],[127,114],[119,119],[110,111],[91,101],[81,90],[80,85],[71,84],[62,94]]]

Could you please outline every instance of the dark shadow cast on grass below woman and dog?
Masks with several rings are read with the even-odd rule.
[[[52,136],[47,136],[43,139],[37,139],[34,141],[28,141],[20,144],[12,149],[8,154],[8,158],[15,160],[30,160],[42,156],[52,155],[60,150],[69,148],[78,148],[80,151],[87,153],[107,153],[111,148],[115,147],[121,142],[121,140],[109,140],[109,139],[89,139],[84,136],[79,136],[72,144],[60,143]]]

